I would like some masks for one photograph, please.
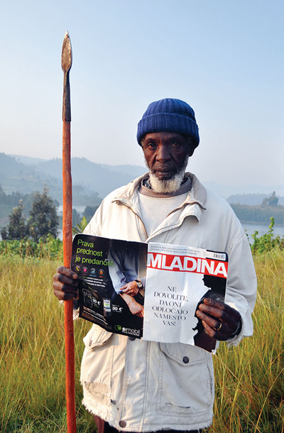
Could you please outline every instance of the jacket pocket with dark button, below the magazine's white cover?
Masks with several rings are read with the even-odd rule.
[[[214,400],[212,355],[182,343],[160,343],[160,350],[158,412],[179,417],[207,414]]]

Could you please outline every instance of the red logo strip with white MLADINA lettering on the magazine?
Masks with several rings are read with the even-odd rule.
[[[175,272],[194,272],[205,275],[215,275],[226,278],[228,262],[212,260],[210,258],[173,256],[171,254],[148,253],[148,268],[173,270]]]

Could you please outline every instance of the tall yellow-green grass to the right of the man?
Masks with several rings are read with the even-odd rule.
[[[210,433],[284,432],[284,253],[254,257],[258,297],[254,334],[214,356],[216,401]]]

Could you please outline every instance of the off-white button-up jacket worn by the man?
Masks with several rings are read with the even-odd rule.
[[[226,303],[242,319],[237,344],[251,336],[256,275],[246,234],[229,204],[193,175],[185,202],[147,237],[138,207],[144,176],[111,192],[84,233],[128,241],[154,241],[226,251]],[[93,325],[84,337],[83,404],[119,430],[201,429],[212,423],[212,355],[195,346],[131,339]]]

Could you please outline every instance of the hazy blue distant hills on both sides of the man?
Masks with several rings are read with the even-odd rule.
[[[140,165],[96,164],[86,158],[72,158],[73,202],[75,205],[93,205],[93,197],[104,198],[112,190],[126,185],[144,172],[146,168]],[[201,176],[200,180],[209,190],[228,197],[230,203],[261,204],[263,198],[275,190],[279,204],[284,204],[284,185],[240,187],[204,181]],[[61,159],[43,160],[0,153],[0,185],[7,194],[42,191],[45,184],[50,188],[51,197],[62,202]]]

